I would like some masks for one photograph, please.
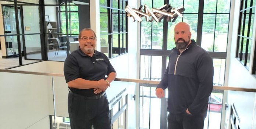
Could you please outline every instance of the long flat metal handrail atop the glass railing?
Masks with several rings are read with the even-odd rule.
[[[18,70],[10,70],[10,69],[0,69],[0,72],[64,77],[64,73],[31,72],[31,71],[18,71]],[[133,83],[147,83],[147,84],[158,84],[160,82],[160,81],[127,79],[127,78],[116,78],[115,81],[125,81],[125,82],[133,82]],[[215,89],[215,90],[229,90],[229,91],[256,92],[256,88],[243,88],[243,87],[231,87],[231,86],[213,86],[213,89]]]

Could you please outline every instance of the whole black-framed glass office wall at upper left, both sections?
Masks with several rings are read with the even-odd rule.
[[[14,66],[40,60],[65,61],[67,55],[78,49],[79,31],[90,28],[89,1],[75,3],[69,0],[0,0],[2,57],[16,58]]]

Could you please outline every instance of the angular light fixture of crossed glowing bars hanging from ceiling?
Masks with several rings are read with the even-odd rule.
[[[136,20],[138,22],[142,22],[141,17],[143,16],[145,16],[146,22],[153,22],[153,20],[160,22],[165,17],[167,17],[167,22],[175,22],[178,16],[181,18],[183,17],[181,13],[185,11],[185,8],[183,6],[173,8],[170,4],[165,4],[160,8],[152,8],[150,10],[149,7],[145,4],[143,11],[142,5],[139,7],[139,9],[131,8],[129,5],[125,6],[125,12],[127,12],[127,16],[133,18],[134,22]],[[151,19],[149,20],[150,17]]]

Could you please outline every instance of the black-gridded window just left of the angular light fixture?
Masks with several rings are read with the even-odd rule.
[[[100,46],[109,58],[127,52],[127,0],[100,1]]]

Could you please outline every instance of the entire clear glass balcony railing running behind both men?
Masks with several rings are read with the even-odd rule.
[[[17,72],[0,72],[0,128],[70,128],[68,85],[64,76]],[[132,79],[117,79],[111,83],[106,94],[114,128],[132,128],[136,122],[140,129],[167,128],[167,90],[165,98],[157,98],[156,83],[158,82]],[[139,90],[139,95],[135,95],[136,90]],[[252,128],[255,125],[255,92],[255,89],[214,87],[209,96],[204,129],[231,128],[230,125]],[[223,98],[224,93],[227,100]],[[227,107],[224,102],[227,102]]]

